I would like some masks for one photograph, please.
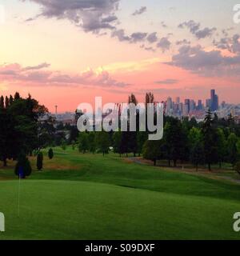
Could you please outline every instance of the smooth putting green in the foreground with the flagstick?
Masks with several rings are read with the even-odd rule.
[[[237,200],[97,182],[0,183],[6,232],[0,239],[240,239]]]

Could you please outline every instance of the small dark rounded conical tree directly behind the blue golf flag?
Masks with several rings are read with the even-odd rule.
[[[26,178],[26,176],[30,176],[32,173],[32,168],[30,166],[30,162],[26,157],[26,154],[21,152],[18,156],[18,162],[15,166],[15,174],[20,178]]]

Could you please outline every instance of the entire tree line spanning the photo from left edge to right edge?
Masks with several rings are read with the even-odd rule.
[[[138,104],[134,94],[128,98],[129,103]],[[154,94],[146,94],[146,104],[154,103]],[[158,160],[166,160],[169,166],[177,166],[179,162],[191,162],[196,166],[206,165],[211,170],[213,164],[222,166],[229,162],[240,174],[240,126],[230,115],[228,118],[218,118],[210,111],[206,112],[203,122],[195,118],[173,118],[164,116],[164,133],[162,140],[150,141],[150,132],[139,131],[140,113],[137,111],[137,130],[134,132],[111,131],[79,133],[76,126],[56,123],[53,117],[44,122],[40,118],[48,113],[45,106],[28,95],[22,98],[16,93],[13,96],[0,98],[0,161],[7,165],[7,159],[18,159],[20,166],[26,166],[28,155],[38,155],[38,170],[42,170],[42,148],[47,146],[67,145],[85,154],[111,151],[121,157],[134,154],[142,155],[157,165]],[[156,118],[156,117],[155,117]],[[78,116],[76,115],[76,121]],[[119,122],[120,123],[120,122]],[[68,131],[66,138],[64,131]],[[53,152],[50,152],[50,155]],[[16,166],[18,172],[19,166]],[[30,169],[26,171],[26,174]]]

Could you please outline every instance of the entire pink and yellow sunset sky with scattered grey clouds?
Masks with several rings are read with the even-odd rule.
[[[239,103],[238,2],[0,0],[1,94],[30,93],[60,111],[146,91],[206,99],[211,88]]]

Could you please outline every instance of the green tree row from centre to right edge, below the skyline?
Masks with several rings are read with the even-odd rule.
[[[138,104],[134,94],[129,102]],[[154,102],[153,94],[146,94],[146,104]],[[137,124],[139,113],[137,113]],[[137,126],[138,127],[138,126]],[[204,122],[197,122],[194,118],[164,117],[164,135],[160,141],[148,140],[149,132],[114,131],[109,134],[81,133],[76,140],[78,149],[82,153],[101,151],[106,154],[109,146],[114,153],[143,154],[156,165],[158,160],[167,160],[169,166],[173,162],[177,166],[179,161],[191,162],[198,170],[199,165],[207,165],[211,170],[212,164],[230,162],[233,166],[240,157],[240,127],[234,118],[218,118],[208,111]]]

